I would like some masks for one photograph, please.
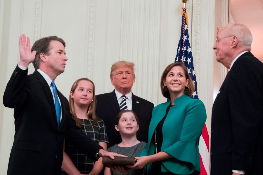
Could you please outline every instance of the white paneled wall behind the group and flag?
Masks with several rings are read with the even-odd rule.
[[[189,1],[186,7],[199,98],[207,109],[210,133],[214,0]],[[176,56],[181,8],[181,1],[174,0],[0,0],[0,96],[18,63],[18,37],[24,33],[31,43],[51,35],[65,40],[69,60],[56,85],[66,97],[82,77],[94,81],[96,94],[111,92],[111,64],[127,60],[135,63],[134,94],[160,104],[166,101],[160,76]],[[33,71],[30,66],[29,73]],[[13,122],[13,110],[1,103],[0,174],[6,174]]]

